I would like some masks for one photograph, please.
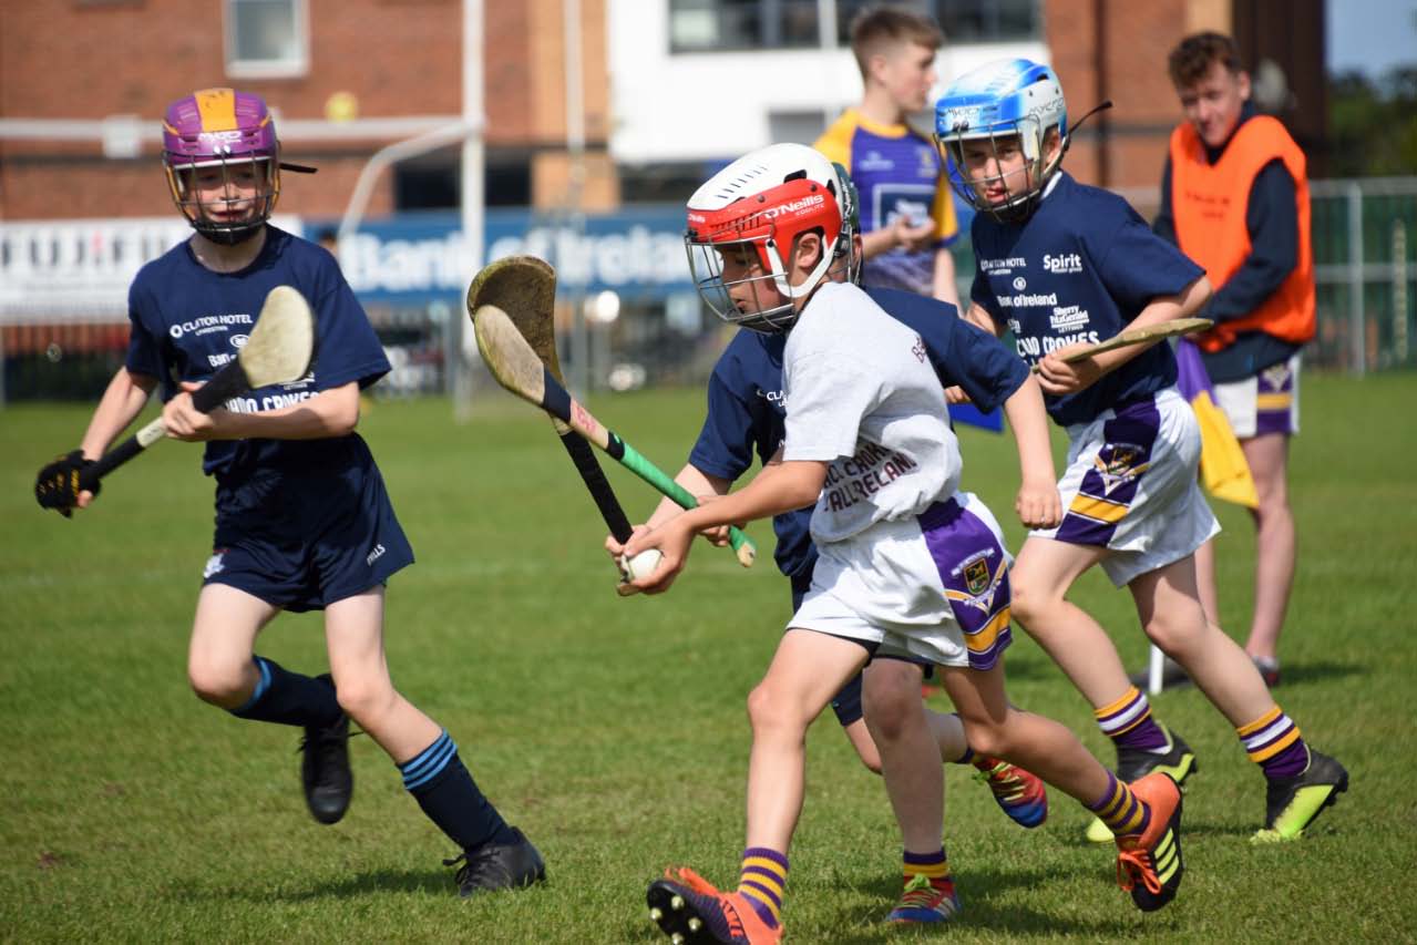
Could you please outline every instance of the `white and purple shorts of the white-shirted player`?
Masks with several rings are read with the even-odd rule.
[[[812,589],[789,628],[876,646],[880,656],[988,670],[1012,640],[999,523],[971,493],[818,545]]]

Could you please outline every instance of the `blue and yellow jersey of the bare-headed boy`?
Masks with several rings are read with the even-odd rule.
[[[937,242],[921,252],[893,249],[867,259],[862,283],[934,295],[935,254],[959,237],[954,197],[939,152],[908,125],[876,125],[846,109],[813,145],[852,176],[859,193],[862,232],[907,217],[935,221]]]

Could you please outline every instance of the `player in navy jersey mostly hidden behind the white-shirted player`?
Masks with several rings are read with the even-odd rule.
[[[805,160],[815,166],[815,176],[829,177],[832,169],[819,157],[803,154],[796,146],[782,146],[786,160]],[[843,247],[850,245],[852,254],[843,254],[833,261],[826,278],[835,282],[852,279],[856,272],[847,272],[849,259],[859,258],[860,235],[856,228],[856,194],[850,179],[839,174],[842,183]],[[854,266],[853,266],[854,268]],[[954,306],[934,299],[894,289],[866,289],[866,293],[880,305],[887,315],[915,330],[925,344],[930,364],[947,377],[961,377],[973,391],[976,404],[988,409],[1002,404],[1027,378],[1027,370],[1006,349],[972,329],[961,329]],[[708,412],[689,455],[689,462],[674,477],[682,486],[697,496],[727,494],[731,485],[752,466],[754,455],[765,466],[782,445],[784,408],[782,397],[782,350],[786,344],[789,319],[784,313],[743,315],[720,312],[730,323],[740,326],[728,343],[714,371],[708,378]],[[955,381],[951,380],[951,384]],[[679,506],[663,500],[655,509],[646,526],[655,527],[679,514]],[[808,531],[812,506],[774,516],[777,533],[775,560],[778,568],[788,577],[792,587],[792,611],[802,605],[802,598],[812,585],[812,568],[816,564],[816,548]],[[723,530],[710,530],[708,537],[724,544]],[[605,540],[611,555],[623,553],[614,536]],[[873,660],[864,673],[857,673],[846,687],[832,698],[836,713],[857,757],[870,771],[880,772],[880,751],[871,732],[881,740],[900,738],[908,727],[901,718],[918,713],[920,687],[924,666],[914,660],[883,657]],[[863,677],[864,693],[863,693]],[[863,698],[867,707],[863,718]],[[1047,791],[1036,776],[999,758],[976,754],[965,742],[964,725],[956,714],[925,710],[928,734],[939,757],[947,762],[971,764],[982,772],[1000,809],[1016,823],[1036,827],[1047,817]],[[917,747],[928,751],[930,744]],[[934,805],[938,808],[938,805]],[[915,873],[907,864],[905,880]],[[941,880],[948,881],[947,877]],[[952,900],[947,900],[952,902]],[[934,911],[922,915],[938,915]],[[903,912],[903,919],[911,921]],[[922,919],[930,921],[930,919]]]

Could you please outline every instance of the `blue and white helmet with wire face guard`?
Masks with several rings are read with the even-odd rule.
[[[1053,129],[1058,150],[1049,162],[1046,142]],[[1000,60],[966,72],[935,102],[935,142],[958,171],[949,183],[975,210],[999,220],[1016,221],[1032,211],[1063,162],[1067,135],[1067,103],[1057,75],[1029,60]],[[983,142],[995,160],[1000,150],[1017,147],[1027,173],[982,174],[988,166],[971,173],[966,142]],[[979,149],[969,150],[979,160]]]

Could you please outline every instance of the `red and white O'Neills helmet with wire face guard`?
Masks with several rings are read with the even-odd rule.
[[[740,157],[689,198],[684,247],[699,295],[724,322],[778,333],[796,322],[795,299],[805,298],[833,266],[854,281],[856,188],[840,164],[805,145],[771,145]],[[789,285],[784,258],[805,232],[822,237],[822,259],[801,285]],[[751,249],[754,273],[727,283],[723,251]],[[782,305],[743,312],[730,286],[771,281]]]

